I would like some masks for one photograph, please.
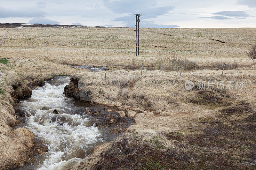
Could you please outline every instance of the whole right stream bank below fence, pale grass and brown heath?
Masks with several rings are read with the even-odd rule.
[[[72,169],[254,169],[256,67],[221,71],[81,72],[80,92],[134,117],[128,133]],[[243,89],[190,90],[185,81],[244,81]],[[97,148],[98,148],[97,147]]]

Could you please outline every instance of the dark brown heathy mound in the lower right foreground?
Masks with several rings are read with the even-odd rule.
[[[235,102],[225,110],[230,110],[231,115],[222,111],[217,116],[201,118],[192,134],[124,134],[105,148],[94,168],[254,169],[256,116],[252,108],[248,103]]]

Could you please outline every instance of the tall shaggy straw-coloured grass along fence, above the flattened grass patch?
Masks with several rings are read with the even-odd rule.
[[[180,77],[179,73],[175,71],[144,70],[142,76],[140,76],[140,71],[116,70],[106,72],[107,83],[105,83],[104,72],[83,72],[75,75],[74,78],[79,80],[80,91],[91,93],[92,102],[164,111],[170,110],[175,105],[184,103],[184,101],[192,101],[192,103],[211,102],[208,93],[200,94],[195,90],[186,91],[186,80],[191,80],[195,84],[198,81],[244,81],[244,89],[237,91],[231,89],[228,91],[228,95],[235,99],[241,96],[246,97],[245,93],[255,88],[256,77],[254,70],[251,71],[251,74],[245,73],[245,70],[226,70],[225,74],[228,76],[221,77],[220,71],[201,70],[184,72],[183,76]],[[215,94],[218,94],[219,97]],[[202,95],[202,98],[200,98],[200,95]],[[221,93],[215,91],[213,95],[212,99],[222,101]]]

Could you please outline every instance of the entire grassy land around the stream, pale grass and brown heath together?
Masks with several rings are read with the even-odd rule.
[[[0,36],[5,32],[0,29]],[[8,28],[0,46],[2,162],[10,162],[10,153],[14,166],[32,161],[17,156],[26,147],[13,149],[17,133],[28,134],[24,142],[33,137],[10,128],[18,122],[13,87],[68,74],[92,102],[120,107],[135,120],[127,133],[97,146],[73,169],[255,169],[256,65],[246,53],[256,44],[256,28],[141,28],[139,56],[134,34],[134,28]],[[141,76],[133,68],[142,62],[148,70]],[[220,76],[224,63],[229,64]],[[64,64],[109,70],[93,73]],[[186,91],[186,80],[244,81],[244,87]]]

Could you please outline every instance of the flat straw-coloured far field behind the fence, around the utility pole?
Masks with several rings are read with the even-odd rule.
[[[159,53],[175,53],[200,66],[218,61],[247,65],[252,63],[246,52],[256,43],[255,32],[255,28],[141,28],[140,54],[146,67],[158,65]],[[2,29],[0,35],[4,33]],[[134,34],[134,28],[8,28],[0,55],[118,68],[132,68],[135,59],[140,67],[142,56],[134,55]],[[209,39],[225,41],[225,47]]]

